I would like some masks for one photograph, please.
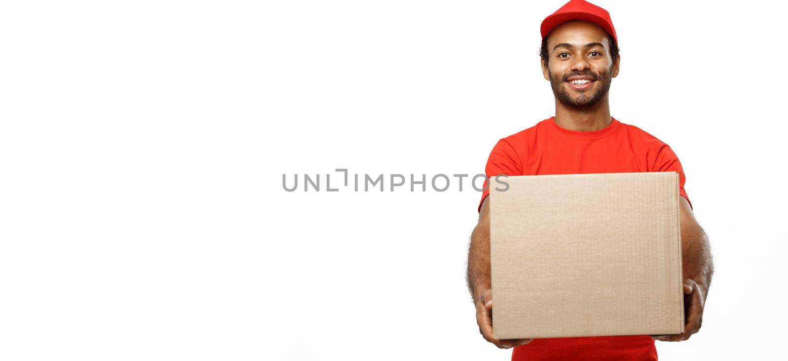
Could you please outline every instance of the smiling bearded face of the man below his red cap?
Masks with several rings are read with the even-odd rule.
[[[608,32],[586,21],[569,21],[548,35],[549,61],[542,73],[564,106],[587,110],[599,106],[619,75],[619,58],[610,55]]]

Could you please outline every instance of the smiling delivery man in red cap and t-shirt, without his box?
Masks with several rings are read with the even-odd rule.
[[[679,335],[496,340],[490,287],[489,190],[481,196],[478,225],[468,251],[468,287],[485,340],[514,348],[513,360],[656,360],[654,340],[684,341],[701,328],[712,281],[708,236],[693,216],[684,171],[666,143],[611,117],[608,89],[619,74],[619,47],[608,12],[571,0],[541,24],[541,70],[556,99],[556,115],[499,140],[488,177],[577,173],[678,173],[685,320]],[[487,189],[488,184],[485,184]],[[523,275],[522,277],[528,277]]]

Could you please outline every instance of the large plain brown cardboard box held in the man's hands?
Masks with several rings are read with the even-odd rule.
[[[489,195],[494,337],[682,333],[678,173],[506,181]]]

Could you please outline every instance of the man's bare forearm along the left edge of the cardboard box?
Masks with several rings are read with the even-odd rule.
[[[474,302],[481,292],[491,288],[489,225],[477,225],[470,235],[467,281]]]

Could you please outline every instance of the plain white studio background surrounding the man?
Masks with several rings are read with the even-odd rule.
[[[281,180],[481,173],[553,114],[563,3],[2,2],[0,359],[509,359],[466,290],[469,184]],[[612,114],[676,151],[716,259],[660,359],[779,358],[784,5],[595,3]]]

